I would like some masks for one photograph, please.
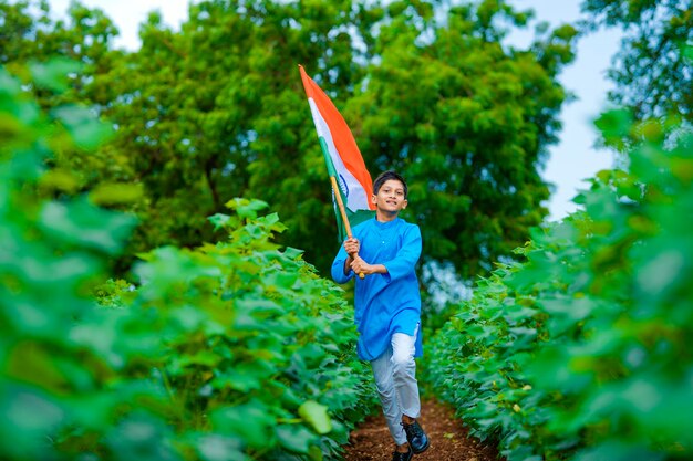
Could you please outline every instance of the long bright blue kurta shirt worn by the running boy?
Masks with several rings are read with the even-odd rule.
[[[401,218],[379,222],[375,218],[353,228],[359,239],[359,255],[369,264],[383,264],[385,274],[355,277],[354,322],[359,331],[356,350],[364,360],[374,360],[390,346],[392,335],[416,333],[415,357],[423,354],[421,294],[415,266],[421,256],[421,230]],[[348,254],[342,247],[332,263],[332,279],[346,283],[353,271],[344,274]]]

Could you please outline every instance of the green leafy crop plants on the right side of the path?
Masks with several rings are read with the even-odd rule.
[[[625,119],[603,116],[604,136]],[[693,138],[644,133],[428,348],[436,390],[510,460],[693,455]]]

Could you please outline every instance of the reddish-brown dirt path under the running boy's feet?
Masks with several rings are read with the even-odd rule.
[[[453,411],[432,400],[422,402],[420,422],[431,448],[414,455],[414,461],[496,461],[497,452],[467,438],[467,430],[454,418]],[[394,442],[382,415],[368,418],[351,433],[345,461],[391,461]]]

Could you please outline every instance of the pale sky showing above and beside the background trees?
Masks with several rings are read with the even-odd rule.
[[[158,10],[164,23],[177,29],[187,19],[188,0],[81,0],[89,7],[105,11],[120,30],[115,42],[118,48],[136,50],[139,24],[148,12]],[[527,46],[534,25],[547,21],[551,27],[575,22],[580,18],[581,0],[509,0],[516,9],[534,9],[536,20],[527,32],[513,33],[509,43]],[[70,0],[50,0],[51,10],[64,17]],[[559,143],[550,146],[549,159],[542,178],[555,189],[548,201],[549,220],[560,220],[575,211],[571,199],[579,189],[587,188],[585,179],[601,169],[610,168],[613,154],[593,147],[597,130],[592,121],[607,107],[607,93],[612,87],[607,80],[607,69],[619,46],[617,31],[599,31],[578,41],[577,57],[559,75],[560,83],[577,96],[577,101],[565,104],[560,114],[562,130]]]

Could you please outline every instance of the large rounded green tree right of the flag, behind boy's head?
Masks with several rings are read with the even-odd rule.
[[[563,27],[529,51],[508,52],[496,24],[521,25],[527,13],[484,1],[451,8],[441,21],[432,8],[407,4],[390,6],[381,60],[353,118],[372,169],[411,180],[407,211],[422,223],[426,259],[470,277],[547,212],[539,169],[560,127],[566,94],[555,77],[573,57],[576,31]]]

